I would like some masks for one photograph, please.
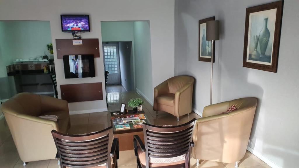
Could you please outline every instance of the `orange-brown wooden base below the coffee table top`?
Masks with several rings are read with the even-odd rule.
[[[144,143],[143,132],[130,132],[130,133],[123,133],[123,134],[114,134],[114,138],[118,138],[119,141],[119,150],[132,150],[134,149],[133,146],[133,136],[138,135],[142,142]]]

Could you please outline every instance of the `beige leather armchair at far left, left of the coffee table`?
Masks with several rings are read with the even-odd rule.
[[[51,134],[54,129],[67,133],[70,128],[68,103],[49,96],[20,93],[1,106],[13,141],[24,162],[54,159],[57,149]],[[57,122],[39,118],[57,115]]]

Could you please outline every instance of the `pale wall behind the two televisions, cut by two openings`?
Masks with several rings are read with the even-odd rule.
[[[1,0],[0,20],[44,20],[50,21],[57,71],[58,94],[62,84],[104,84],[103,59],[95,59],[96,77],[65,79],[62,59],[57,59],[55,39],[71,39],[70,33],[62,33],[60,14],[89,14],[91,32],[82,33],[83,38],[98,38],[101,46],[101,21],[149,20],[151,23],[151,51],[153,86],[174,75],[174,1],[173,0]],[[165,54],[167,53],[167,54]],[[102,56],[102,54],[101,54]],[[154,69],[155,68],[155,69]],[[157,70],[159,69],[159,70]],[[163,74],[161,74],[161,70]],[[104,89],[103,85],[103,90]],[[105,95],[105,91],[103,95]],[[70,111],[106,110],[106,98],[99,101],[69,103]]]

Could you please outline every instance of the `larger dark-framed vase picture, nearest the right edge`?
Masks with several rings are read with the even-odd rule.
[[[277,72],[283,1],[246,8],[243,67]]]

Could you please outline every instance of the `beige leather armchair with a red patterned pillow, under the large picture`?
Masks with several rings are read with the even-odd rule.
[[[226,112],[235,105],[236,111]],[[193,133],[193,158],[199,160],[235,163],[244,157],[257,99],[241,98],[206,106],[202,118],[197,119]]]

